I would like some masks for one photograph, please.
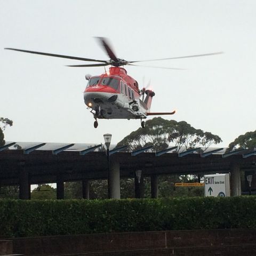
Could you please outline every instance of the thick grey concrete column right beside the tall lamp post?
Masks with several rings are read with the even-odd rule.
[[[110,157],[109,186],[110,198],[120,199],[120,165],[119,161],[111,161]]]

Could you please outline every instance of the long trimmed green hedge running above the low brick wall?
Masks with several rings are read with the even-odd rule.
[[[256,228],[256,197],[0,200],[0,238]]]

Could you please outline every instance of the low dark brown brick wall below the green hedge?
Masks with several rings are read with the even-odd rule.
[[[221,229],[48,236],[12,240],[13,253],[25,255],[90,253],[90,256],[121,254],[135,256],[174,253],[174,255],[241,256],[247,255],[241,254],[243,251],[256,255],[255,237],[256,229]],[[209,254],[206,254],[206,251]],[[100,252],[105,253],[100,254]],[[211,254],[213,252],[225,254]]]

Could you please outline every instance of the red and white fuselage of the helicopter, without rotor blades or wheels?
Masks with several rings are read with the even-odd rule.
[[[149,94],[152,99],[153,93]],[[111,67],[109,73],[90,77],[84,102],[95,119],[142,119],[147,117],[151,99],[143,102],[141,96],[138,82],[124,68]]]

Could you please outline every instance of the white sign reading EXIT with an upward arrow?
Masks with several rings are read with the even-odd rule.
[[[204,175],[205,196],[230,196],[229,174]]]

